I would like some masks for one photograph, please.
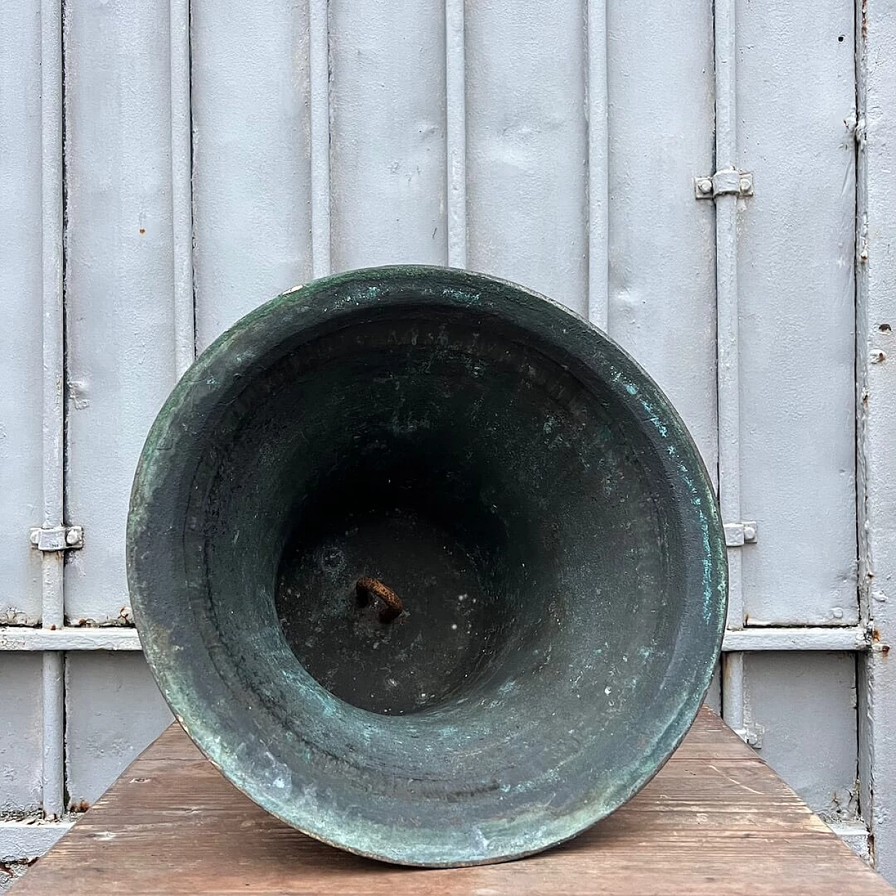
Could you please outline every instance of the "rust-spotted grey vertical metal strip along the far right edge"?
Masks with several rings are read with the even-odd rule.
[[[856,8],[859,582],[876,638],[860,663],[859,777],[876,865],[896,883],[896,16],[882,0]]]

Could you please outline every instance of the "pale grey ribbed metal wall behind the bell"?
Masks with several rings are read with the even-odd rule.
[[[58,46],[47,39],[56,9]],[[744,593],[732,625],[758,648],[737,693],[745,736],[816,809],[864,830],[857,654],[847,652],[864,631],[856,149],[844,125],[855,120],[854,10],[822,0],[807,18],[738,0],[735,13],[737,161],[754,172],[755,195],[737,212],[741,422],[720,434],[715,209],[694,198],[694,177],[714,170],[711,3],[68,0],[64,15],[48,0],[5,5],[4,621],[38,625],[42,607],[27,531],[41,524],[47,472],[37,384],[47,378],[55,175],[42,153],[55,60],[65,73],[65,519],[86,533],[65,564],[67,625],[128,623],[130,481],[193,340],[201,350],[265,299],[330,270],[493,272],[590,314],[632,350],[714,476],[719,439],[734,440],[743,516],[760,527],[756,544],[732,548]],[[791,642],[783,626],[797,627]],[[19,648],[0,654],[0,807],[14,815],[38,810],[54,786],[41,754],[53,727],[47,670],[25,650],[44,642],[4,631],[0,644]],[[79,643],[134,647],[116,632]],[[65,787],[77,805],[99,796],[168,712],[138,655],[75,646]],[[719,703],[719,687],[711,698]]]

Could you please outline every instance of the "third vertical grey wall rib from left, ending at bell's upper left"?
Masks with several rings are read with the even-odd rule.
[[[330,223],[330,5],[310,0],[308,81],[311,142],[311,268],[315,278],[331,271]]]

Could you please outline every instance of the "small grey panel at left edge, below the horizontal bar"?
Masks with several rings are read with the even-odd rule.
[[[0,654],[0,814],[40,806],[40,657]]]

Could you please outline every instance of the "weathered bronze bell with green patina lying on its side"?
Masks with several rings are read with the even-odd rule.
[[[466,271],[315,280],[185,374],[134,480],[146,657],[229,780],[415,866],[573,837],[710,683],[725,542],[685,426],[581,317]]]

